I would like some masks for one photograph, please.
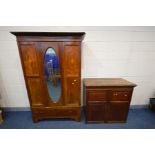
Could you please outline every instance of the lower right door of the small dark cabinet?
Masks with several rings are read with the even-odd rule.
[[[129,102],[109,102],[106,106],[105,120],[108,122],[125,122],[128,109]]]

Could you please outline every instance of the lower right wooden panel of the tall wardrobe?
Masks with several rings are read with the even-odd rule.
[[[67,104],[80,105],[80,79],[70,77],[67,78]]]

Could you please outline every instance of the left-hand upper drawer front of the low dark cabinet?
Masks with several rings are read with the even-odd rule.
[[[87,91],[88,101],[107,101],[107,92],[104,90]]]

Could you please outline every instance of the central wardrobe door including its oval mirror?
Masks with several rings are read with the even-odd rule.
[[[64,104],[63,62],[60,42],[39,42],[39,66],[48,107]]]

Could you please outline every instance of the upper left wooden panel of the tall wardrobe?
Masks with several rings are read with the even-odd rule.
[[[33,44],[22,44],[20,49],[26,76],[38,76],[39,70],[35,46]]]

